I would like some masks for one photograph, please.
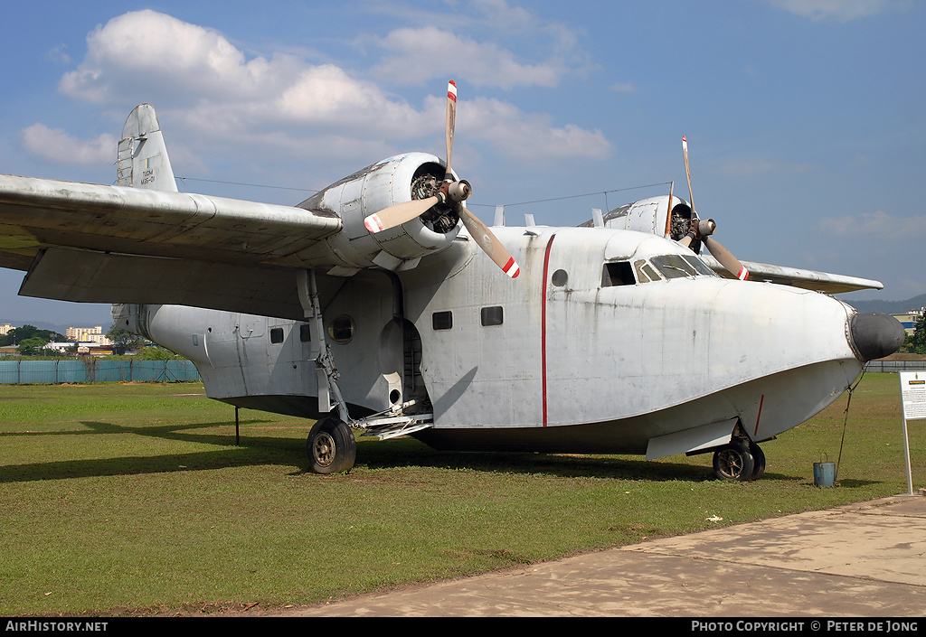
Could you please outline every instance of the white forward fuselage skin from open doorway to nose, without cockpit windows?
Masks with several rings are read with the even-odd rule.
[[[831,297],[717,277],[602,287],[607,260],[684,248],[626,231],[497,230],[521,245],[519,286],[495,284],[474,262],[420,308],[475,315],[469,338],[422,331],[435,427],[419,435],[429,443],[644,453],[651,438],[729,418],[761,440],[829,405],[861,369],[846,339],[854,310]],[[565,285],[551,282],[557,270]],[[505,323],[483,328],[479,307],[493,304]],[[461,422],[478,424],[463,433]]]

